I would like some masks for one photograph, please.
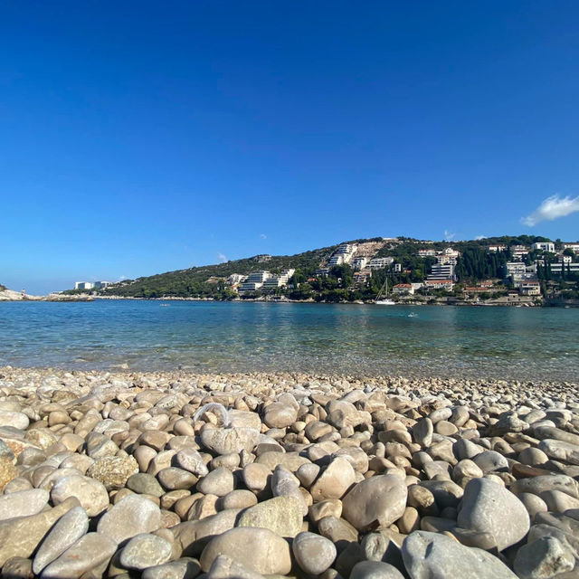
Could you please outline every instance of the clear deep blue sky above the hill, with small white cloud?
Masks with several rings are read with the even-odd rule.
[[[576,0],[3,2],[0,282],[576,240],[578,23]]]

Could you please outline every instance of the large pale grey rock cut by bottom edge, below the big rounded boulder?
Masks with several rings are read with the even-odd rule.
[[[403,542],[402,556],[412,579],[517,579],[496,556],[439,533],[414,531]]]

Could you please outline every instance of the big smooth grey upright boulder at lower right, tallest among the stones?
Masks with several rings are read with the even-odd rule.
[[[461,528],[493,535],[499,551],[518,543],[530,527],[525,505],[489,479],[472,479],[467,484],[457,522]]]

